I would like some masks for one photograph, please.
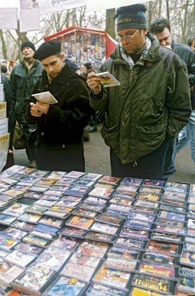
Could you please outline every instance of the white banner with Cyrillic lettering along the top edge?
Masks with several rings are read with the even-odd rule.
[[[86,0],[39,0],[40,14],[85,6]]]

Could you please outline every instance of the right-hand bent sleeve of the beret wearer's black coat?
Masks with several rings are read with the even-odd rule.
[[[46,125],[65,125],[68,127],[89,123],[92,109],[89,104],[89,92],[85,82],[75,78],[67,85],[65,108],[50,105],[45,118]]]

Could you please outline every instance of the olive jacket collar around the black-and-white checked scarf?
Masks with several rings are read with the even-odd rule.
[[[151,32],[147,32],[147,37],[151,40],[151,47],[150,47],[150,50],[149,50],[147,56],[145,56],[143,58],[143,60],[151,60],[151,61],[158,60],[160,58],[160,44],[159,44],[159,41],[158,41],[157,37],[154,34],[152,34]],[[119,44],[117,45],[115,50],[111,53],[110,57],[113,60],[118,60],[119,59],[120,62],[121,62],[121,60],[123,61],[121,53],[120,53]]]

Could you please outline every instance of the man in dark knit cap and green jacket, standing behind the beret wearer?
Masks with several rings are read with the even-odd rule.
[[[27,123],[23,113],[24,100],[30,96],[36,82],[41,77],[43,67],[39,60],[33,58],[35,46],[30,41],[21,45],[23,60],[15,65],[10,75],[10,87],[16,120],[23,130],[29,167],[36,168],[35,139],[36,125]]]

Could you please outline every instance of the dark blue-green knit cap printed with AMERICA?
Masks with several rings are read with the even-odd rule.
[[[143,4],[133,4],[118,7],[115,18],[117,18],[117,31],[128,28],[147,28],[145,11],[146,6]]]

